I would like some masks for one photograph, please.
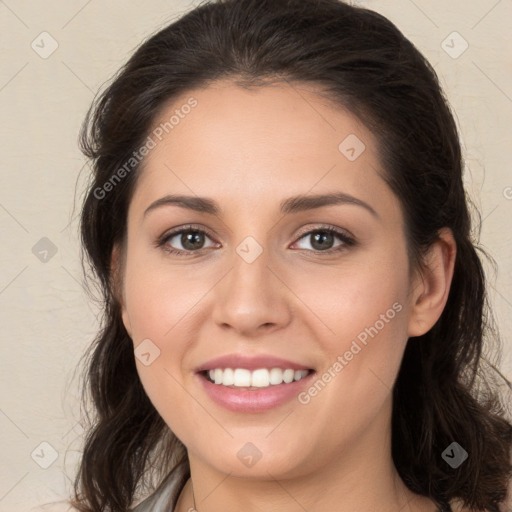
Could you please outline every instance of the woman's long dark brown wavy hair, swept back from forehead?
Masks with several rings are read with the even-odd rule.
[[[451,229],[457,253],[446,306],[432,329],[407,343],[392,391],[392,457],[411,491],[442,506],[457,499],[496,509],[512,477],[512,424],[491,378],[491,368],[499,371],[483,353],[484,339],[500,340],[456,123],[434,69],[397,27],[339,0],[201,4],[141,44],[91,105],[80,133],[93,167],[80,235],[84,273],[96,279],[103,317],[84,354],[82,399],[90,395],[94,419],[70,503],[81,512],[125,511],[152,488],[155,475],[161,481],[174,473],[180,485],[190,476],[186,447],[137,374],[111,264],[126,237],[140,164],[108,193],[98,190],[143,145],[169,102],[221,79],[245,88],[320,86],[356,115],[375,135],[385,178],[400,200],[414,268],[440,230]],[[442,459],[454,441],[469,454],[456,469]]]

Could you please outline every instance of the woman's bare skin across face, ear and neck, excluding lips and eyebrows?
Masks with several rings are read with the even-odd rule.
[[[147,155],[128,212],[120,269],[122,317],[136,348],[150,339],[160,356],[136,359],[152,403],[188,450],[199,512],[437,510],[410,492],[391,459],[391,392],[408,338],[442,313],[453,275],[455,242],[440,233],[412,272],[400,201],[383,180],[372,133],[356,117],[315,94],[311,84],[245,90],[230,82],[188,91],[198,105]],[[355,134],[366,149],[349,161],[338,146]],[[298,194],[342,191],[368,203],[283,216]],[[144,211],[166,194],[209,197],[222,213],[176,205]],[[190,255],[156,241],[193,223],[211,233]],[[307,231],[331,225],[337,237],[318,249]],[[236,252],[253,237],[263,253]],[[184,250],[180,235],[167,246]],[[326,242],[328,244],[328,242]],[[365,328],[394,303],[402,309],[304,405],[291,400],[259,414],[228,411],[199,385],[194,369],[229,353],[271,354],[322,375]],[[414,343],[410,340],[409,343]],[[262,458],[246,467],[237,452],[253,443]],[[193,506],[189,481],[177,511]]]

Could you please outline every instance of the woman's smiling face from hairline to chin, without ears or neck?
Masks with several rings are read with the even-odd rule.
[[[379,450],[413,283],[373,135],[311,85],[218,82],[168,105],[150,136],[128,213],[123,321],[142,384],[189,456],[264,477]],[[327,194],[341,199],[286,202]],[[159,201],[170,195],[217,210]],[[248,375],[256,389],[199,368],[239,368],[237,383]],[[247,371],[272,368],[309,371],[268,387],[290,372]]]

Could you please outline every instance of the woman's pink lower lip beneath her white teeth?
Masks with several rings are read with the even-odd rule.
[[[249,390],[214,384],[200,373],[196,374],[208,396],[217,404],[234,412],[264,412],[279,407],[296,398],[303,388],[309,385],[314,375],[315,372],[311,372],[301,380],[289,384]]]

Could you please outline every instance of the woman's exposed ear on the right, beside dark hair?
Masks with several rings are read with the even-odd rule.
[[[413,288],[409,336],[425,334],[441,316],[450,292],[456,254],[452,231],[441,229],[425,257],[425,270],[419,273]]]

